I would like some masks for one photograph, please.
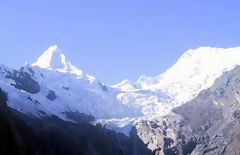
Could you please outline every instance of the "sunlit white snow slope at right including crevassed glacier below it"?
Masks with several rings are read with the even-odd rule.
[[[192,100],[212,86],[216,78],[239,64],[240,47],[200,47],[185,52],[159,76],[141,76],[135,83],[124,80],[114,87],[121,90],[118,99],[124,104],[140,106],[145,115],[164,115]]]

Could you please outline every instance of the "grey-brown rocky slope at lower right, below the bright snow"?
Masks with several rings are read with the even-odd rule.
[[[239,154],[240,67],[226,72],[191,102],[136,128],[155,154]]]

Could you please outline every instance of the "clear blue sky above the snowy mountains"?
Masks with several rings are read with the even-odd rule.
[[[0,0],[0,63],[57,44],[107,84],[155,76],[189,48],[240,46],[239,0]]]

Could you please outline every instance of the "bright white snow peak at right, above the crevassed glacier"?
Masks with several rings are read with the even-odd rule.
[[[210,87],[225,71],[240,64],[240,48],[200,47],[185,52],[175,65],[154,78],[138,81],[141,88],[161,89],[188,101]],[[180,95],[180,96],[179,96]],[[177,97],[178,96],[178,97]]]

